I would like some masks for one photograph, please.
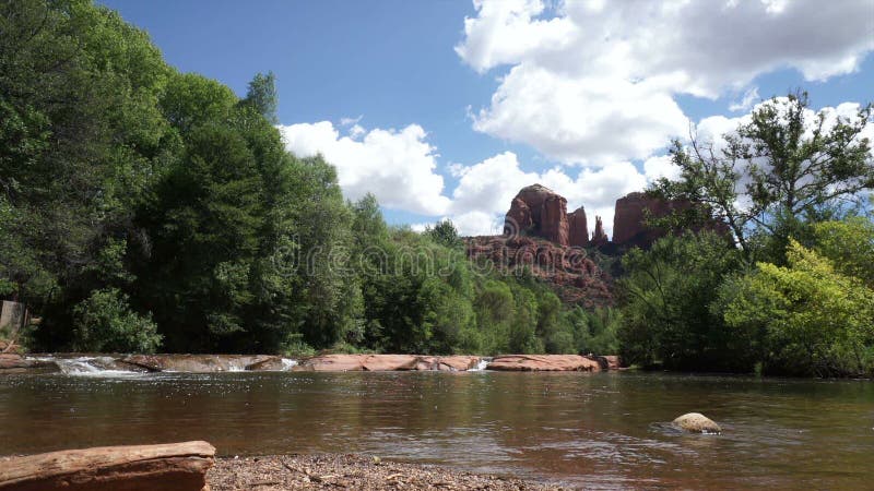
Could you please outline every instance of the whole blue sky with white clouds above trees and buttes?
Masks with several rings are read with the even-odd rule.
[[[616,199],[675,175],[672,139],[798,88],[835,115],[874,101],[874,0],[102,3],[240,96],[272,71],[286,147],[416,229],[499,233],[540,182],[610,235]]]

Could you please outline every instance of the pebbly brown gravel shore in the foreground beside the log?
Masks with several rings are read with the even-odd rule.
[[[522,479],[352,454],[224,457],[206,472],[211,491],[310,489],[562,490]]]

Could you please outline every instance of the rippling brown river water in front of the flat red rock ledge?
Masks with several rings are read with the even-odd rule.
[[[701,411],[721,435],[664,424]],[[874,489],[874,382],[647,373],[0,378],[0,454],[208,440],[587,488]]]

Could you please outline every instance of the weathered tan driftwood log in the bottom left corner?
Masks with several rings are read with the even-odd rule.
[[[99,446],[0,459],[2,491],[209,491],[206,442]]]

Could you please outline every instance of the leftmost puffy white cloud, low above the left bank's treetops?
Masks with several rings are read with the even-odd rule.
[[[356,123],[350,136],[341,136],[330,121],[280,131],[288,151],[302,157],[322,154],[334,165],[347,199],[371,192],[382,206],[425,215],[440,215],[449,206],[444,178],[435,172],[438,155],[418,124],[367,131]]]

